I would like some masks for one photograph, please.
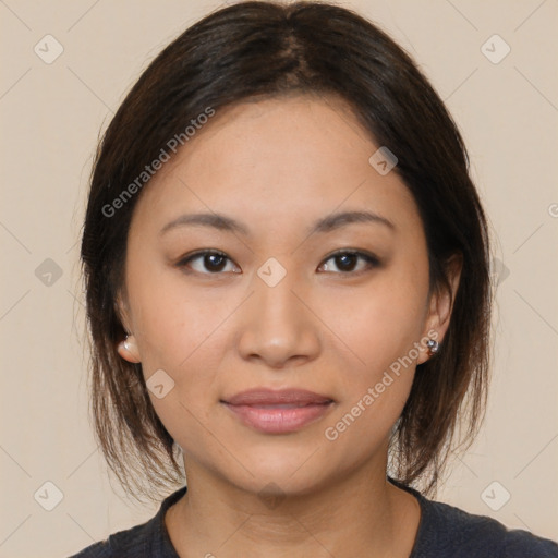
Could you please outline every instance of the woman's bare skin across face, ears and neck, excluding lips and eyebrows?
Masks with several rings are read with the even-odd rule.
[[[441,341],[449,325],[451,293],[429,293],[412,195],[395,171],[368,163],[379,145],[333,98],[235,105],[186,147],[134,210],[119,299],[133,335],[118,348],[146,379],[163,369],[174,381],[162,399],[149,396],[184,452],[189,489],[166,515],[179,556],[409,556],[420,507],[386,481],[388,437],[427,351],[335,441],[325,429],[413,343],[432,330]],[[364,209],[393,227],[306,232],[333,211]],[[232,217],[250,235],[192,225],[160,234],[198,211]],[[203,248],[228,259],[179,265]],[[341,248],[379,264],[332,258]],[[275,287],[257,275],[270,257],[287,271]],[[458,281],[459,269],[453,291]],[[264,434],[220,402],[255,387],[335,403],[299,432]],[[258,495],[269,483],[275,505]]]

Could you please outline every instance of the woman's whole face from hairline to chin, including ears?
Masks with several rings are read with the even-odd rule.
[[[380,146],[331,98],[236,105],[186,147],[134,210],[119,348],[158,386],[186,475],[294,494],[384,474],[450,310],[429,295],[409,190],[368,162]]]

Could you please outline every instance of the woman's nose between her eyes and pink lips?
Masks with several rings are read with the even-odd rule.
[[[316,359],[322,338],[308,290],[289,274],[275,287],[254,275],[254,293],[243,308],[238,349],[248,361],[270,368],[300,365]]]

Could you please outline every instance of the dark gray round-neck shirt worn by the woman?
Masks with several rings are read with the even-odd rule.
[[[421,505],[421,523],[409,558],[558,558],[558,544],[553,541],[508,530],[492,518],[428,500],[413,488],[393,484],[414,495]],[[179,558],[165,525],[165,512],[185,492],[184,486],[168,496],[146,523],[114,533],[71,558]]]

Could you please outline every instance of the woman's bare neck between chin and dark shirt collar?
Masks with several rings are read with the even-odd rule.
[[[354,471],[304,494],[246,492],[189,463],[189,488],[166,517],[181,558],[408,557],[418,527],[414,496],[383,471]]]

